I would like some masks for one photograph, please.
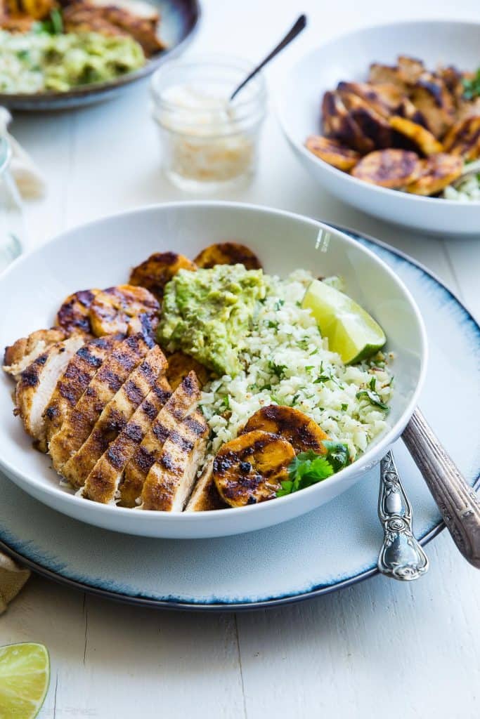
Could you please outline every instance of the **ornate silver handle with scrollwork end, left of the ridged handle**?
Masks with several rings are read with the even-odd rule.
[[[380,464],[379,518],[384,544],[378,567],[396,580],[416,580],[428,569],[428,559],[412,533],[412,505],[400,481],[391,452]]]

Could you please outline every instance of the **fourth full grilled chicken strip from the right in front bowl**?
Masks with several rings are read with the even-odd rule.
[[[167,361],[155,345],[140,365],[127,377],[112,400],[101,412],[88,439],[62,467],[62,475],[72,487],[83,487],[86,477],[109,444],[117,438],[137,407],[166,370]]]

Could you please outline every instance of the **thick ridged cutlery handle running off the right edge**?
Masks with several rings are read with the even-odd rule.
[[[463,557],[480,569],[479,496],[463,479],[418,408],[402,439],[422,472],[453,541]]]

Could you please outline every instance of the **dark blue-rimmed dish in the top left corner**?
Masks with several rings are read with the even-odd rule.
[[[92,83],[68,92],[0,93],[0,105],[14,110],[68,110],[113,99],[123,88],[154,72],[166,60],[182,52],[193,39],[200,19],[199,0],[148,0],[160,13],[158,35],[167,49],[147,60],[140,70],[106,83]]]

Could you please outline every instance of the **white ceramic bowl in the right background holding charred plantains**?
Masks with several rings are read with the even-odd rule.
[[[337,170],[304,147],[320,132],[323,93],[340,80],[365,81],[373,62],[393,64],[397,55],[421,58],[427,68],[479,66],[480,22],[401,22],[356,30],[325,42],[299,60],[277,97],[281,127],[296,156],[326,190],[359,210],[435,234],[479,234],[480,201],[460,203],[377,187]]]

